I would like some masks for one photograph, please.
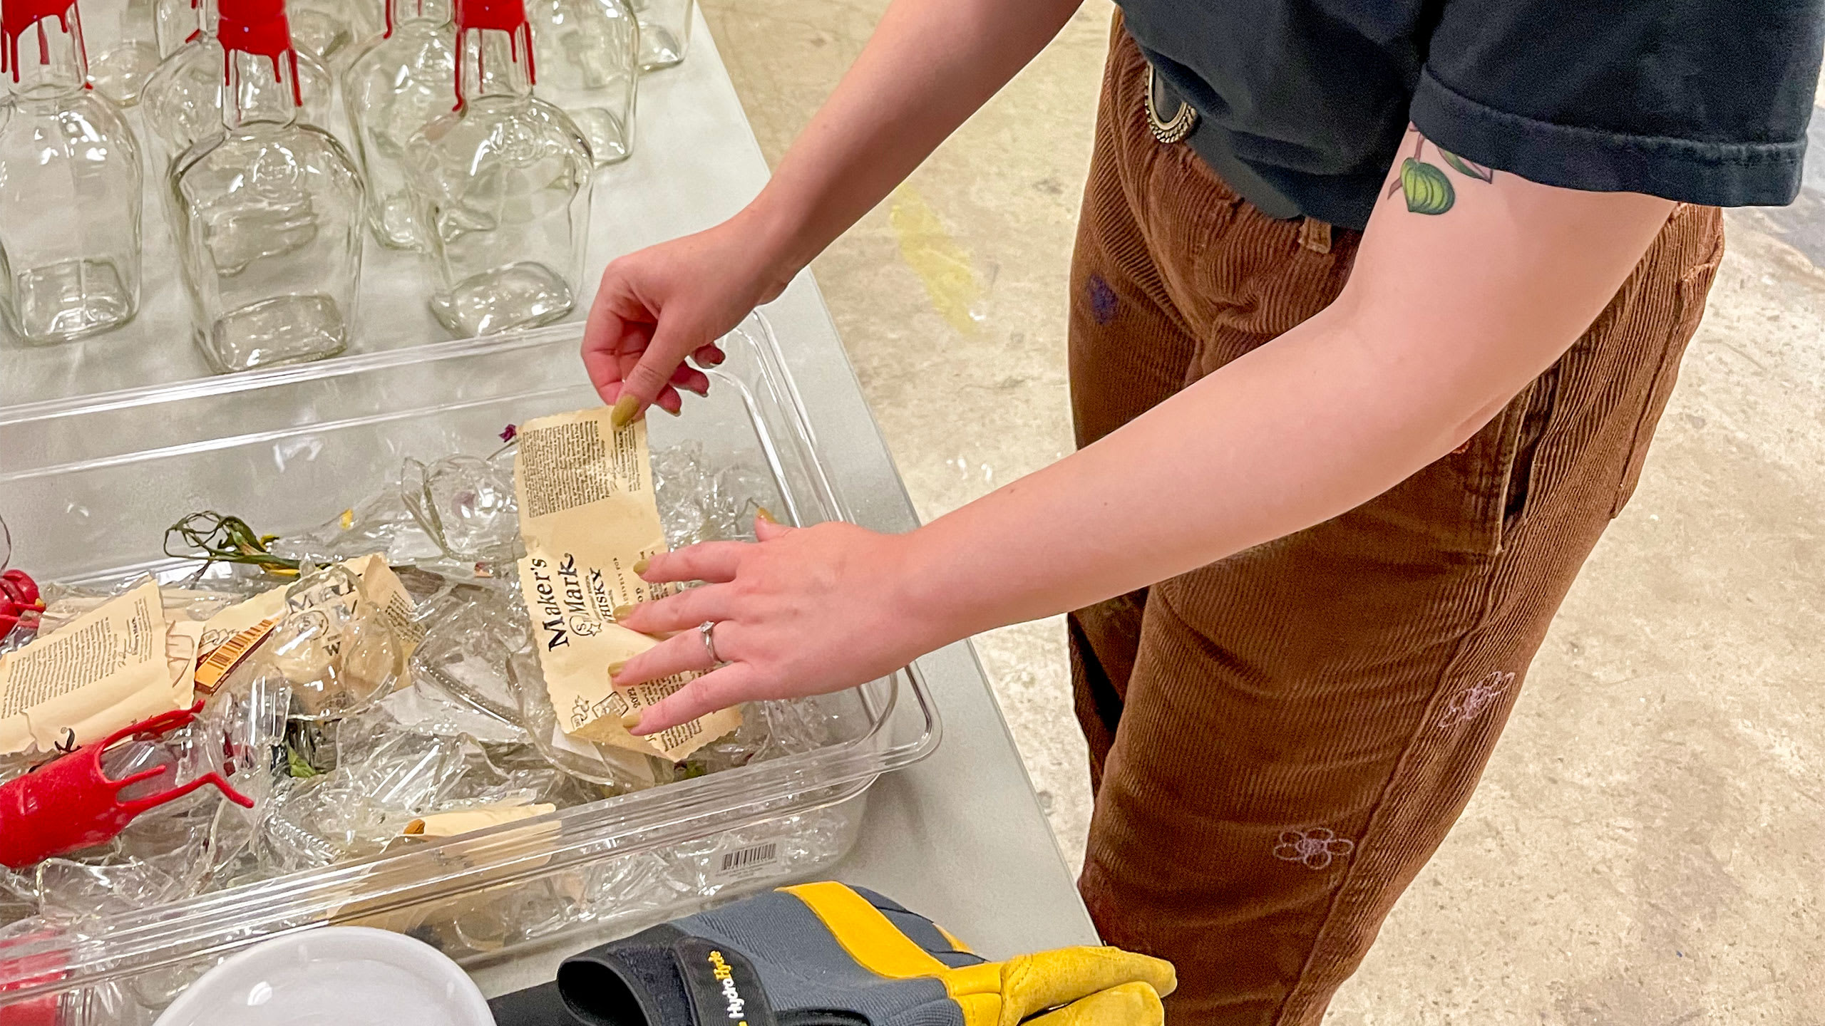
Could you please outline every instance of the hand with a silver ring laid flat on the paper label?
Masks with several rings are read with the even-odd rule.
[[[620,624],[673,633],[630,659],[615,685],[708,670],[646,708],[657,734],[743,701],[836,692],[883,677],[951,641],[912,597],[912,535],[854,524],[756,520],[759,542],[704,542],[652,557],[650,582],[704,581],[635,606]],[[697,626],[714,623],[717,666]]]

